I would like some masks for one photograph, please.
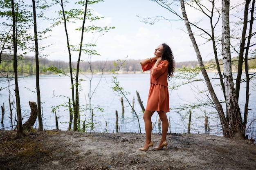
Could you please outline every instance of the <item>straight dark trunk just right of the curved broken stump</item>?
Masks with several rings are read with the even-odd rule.
[[[43,121],[41,115],[41,97],[40,97],[40,85],[39,85],[39,58],[38,58],[38,36],[36,26],[36,3],[33,3],[33,16],[34,16],[34,39],[35,39],[35,50],[36,50],[36,93],[37,93],[37,114],[38,114],[38,130],[43,130]]]

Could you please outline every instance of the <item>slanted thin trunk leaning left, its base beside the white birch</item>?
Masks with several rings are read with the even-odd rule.
[[[215,94],[215,92],[213,90],[213,87],[211,85],[211,82],[210,82],[210,79],[208,77],[208,74],[207,74],[207,72],[205,70],[205,67],[204,67],[204,64],[203,64],[203,61],[202,61],[202,56],[201,56],[200,51],[198,49],[198,45],[197,45],[197,43],[195,41],[193,32],[192,32],[190,24],[189,24],[189,20],[188,20],[187,15],[186,15],[184,0],[180,0],[180,6],[181,6],[184,22],[185,22],[185,25],[186,25],[186,29],[189,32],[189,37],[191,39],[191,42],[193,44],[195,53],[196,53],[197,58],[198,58],[198,63],[199,63],[199,66],[201,68],[202,75],[204,76],[205,82],[207,84],[207,88],[209,90],[211,98],[213,99],[213,102],[214,102],[214,105],[216,107],[216,110],[218,111],[218,115],[220,116],[220,123],[222,125],[223,135],[225,137],[227,137],[229,135],[229,127],[228,127],[228,124],[227,124],[227,119],[225,117],[225,113],[223,111],[223,108],[222,108],[222,106],[221,106],[221,104],[220,104],[220,102],[219,102],[219,100],[218,100],[218,98],[217,98],[217,96],[216,96],[216,94]]]

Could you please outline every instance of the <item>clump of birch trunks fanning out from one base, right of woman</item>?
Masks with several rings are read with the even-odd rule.
[[[178,20],[184,20],[185,25],[186,25],[186,30],[189,33],[189,37],[191,39],[191,42],[193,44],[195,53],[198,57],[198,63],[200,66],[200,71],[202,72],[202,75],[204,76],[204,80],[207,84],[207,88],[208,91],[211,95],[211,99],[213,101],[214,104],[214,108],[216,108],[218,115],[220,117],[220,123],[222,125],[222,131],[223,131],[223,135],[225,137],[233,137],[233,136],[237,136],[240,135],[240,137],[245,137],[245,130],[246,130],[246,121],[247,121],[247,110],[248,110],[248,102],[249,102],[249,80],[255,76],[255,74],[252,74],[249,77],[249,74],[247,74],[247,98],[246,98],[246,104],[245,104],[245,116],[244,116],[244,122],[242,121],[242,117],[241,117],[241,113],[240,113],[240,108],[238,105],[238,96],[236,96],[236,94],[239,94],[239,89],[240,89],[240,82],[243,81],[243,79],[240,77],[241,75],[241,71],[243,68],[243,62],[245,62],[245,65],[247,65],[247,57],[243,57],[244,55],[247,56],[248,55],[248,51],[249,48],[252,48],[252,46],[254,44],[250,44],[249,40],[252,38],[252,23],[254,21],[253,18],[253,13],[254,13],[254,3],[255,1],[252,1],[252,8],[251,8],[251,20],[248,22],[247,20],[247,15],[248,15],[248,7],[249,7],[249,2],[250,0],[246,1],[245,4],[242,3],[240,5],[245,5],[244,9],[244,18],[243,18],[243,35],[240,36],[240,39],[242,40],[242,44],[238,44],[238,47],[232,46],[232,48],[234,49],[234,51],[236,52],[236,49],[240,49],[240,57],[239,57],[239,62],[238,62],[238,76],[236,78],[236,88],[234,88],[234,83],[233,83],[233,75],[232,75],[232,69],[231,69],[231,65],[234,64],[232,63],[231,60],[231,51],[230,51],[230,46],[231,46],[231,42],[230,42],[230,38],[236,38],[239,37],[238,35],[235,36],[235,32],[232,32],[233,36],[230,36],[230,31],[229,31],[229,0],[222,0],[222,11],[220,10],[220,8],[218,8],[216,6],[216,2],[215,0],[211,0],[211,1],[207,1],[211,4],[211,8],[209,8],[208,5],[202,4],[206,1],[198,1],[198,0],[193,0],[193,1],[184,1],[184,0],[180,0],[180,6],[182,9],[182,15],[183,17],[181,17],[178,13],[175,12],[175,10],[173,10],[171,8],[171,4],[168,4],[168,1],[162,1],[162,0],[151,0],[154,2],[157,2],[159,5],[161,5],[162,7],[164,7],[165,9],[169,10],[171,13],[175,14],[178,17]],[[210,23],[210,31],[207,31],[206,29],[203,29],[203,26],[201,24],[200,26],[200,22],[202,20],[200,20],[199,22],[194,22],[191,23],[189,22],[189,19],[186,15],[186,10],[185,10],[185,4],[188,7],[191,7],[193,9],[196,9],[200,12],[202,12],[202,14],[204,14],[207,18],[209,18],[209,23]],[[239,5],[238,5],[239,6]],[[215,20],[214,16],[216,16]],[[220,21],[220,17],[222,17],[222,41],[220,42],[220,40],[218,39],[218,36],[215,35],[215,30],[216,30],[216,26],[218,26],[218,23]],[[156,18],[164,18],[162,16],[157,16]],[[154,18],[154,20],[156,20],[156,18]],[[238,17],[237,17],[238,18]],[[166,19],[168,20],[168,19]],[[174,20],[174,19],[173,19]],[[215,23],[214,23],[215,22]],[[247,26],[247,22],[250,24],[249,29]],[[150,22],[152,23],[152,22]],[[197,31],[192,31],[191,26],[193,26]],[[249,31],[248,31],[249,30]],[[247,34],[247,36],[245,36],[245,32],[248,31],[249,34]],[[200,32],[200,33],[198,33]],[[215,56],[215,62],[216,62],[216,67],[217,67],[217,71],[218,71],[218,75],[220,78],[220,84],[222,87],[222,91],[223,91],[223,96],[225,98],[225,103],[226,103],[226,116],[225,116],[225,111],[222,108],[222,105],[220,103],[220,100],[217,98],[216,93],[213,89],[213,86],[211,84],[211,81],[209,79],[209,76],[207,74],[206,71],[206,66],[204,65],[204,62],[202,61],[202,57],[200,54],[200,50],[198,48],[198,44],[195,40],[195,36],[199,36],[201,38],[206,39],[206,42],[211,41],[212,42],[212,46],[213,46],[213,53]],[[208,38],[207,38],[208,37]],[[247,39],[247,47],[245,47],[245,39]],[[220,63],[218,60],[218,46],[217,44],[221,44],[222,46],[222,61],[223,61],[223,70],[224,73],[222,75],[221,69],[220,69]],[[246,53],[244,54],[244,50],[246,49]],[[246,72],[248,71],[249,67],[247,66],[246,68]]]

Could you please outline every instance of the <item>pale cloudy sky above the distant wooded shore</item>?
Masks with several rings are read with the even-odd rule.
[[[189,35],[186,33],[184,21],[162,20],[153,25],[141,22],[142,18],[150,18],[157,15],[162,15],[167,19],[177,19],[174,14],[159,6],[156,2],[150,0],[104,0],[104,2],[89,7],[94,10],[95,15],[104,17],[104,19],[93,24],[115,26],[115,29],[111,29],[102,36],[97,34],[85,35],[84,42],[96,44],[97,47],[94,50],[100,54],[100,56],[92,56],[90,58],[91,61],[142,60],[153,57],[155,48],[164,42],[171,47],[175,62],[197,60]],[[72,8],[72,5],[68,5],[66,9],[68,8]],[[172,8],[181,15],[179,6],[173,5]],[[193,11],[191,8],[187,8],[186,12],[190,21],[202,19],[202,14]],[[74,31],[74,29],[80,27],[81,24],[81,22],[68,24],[67,29],[71,44],[79,44],[81,33]],[[221,32],[221,26],[219,26],[219,31]],[[52,29],[50,34],[51,37],[40,42],[39,45],[53,45],[45,48],[41,54],[49,55],[47,57],[49,60],[67,62],[69,57],[64,27],[57,26]],[[197,40],[198,44],[202,44],[205,41],[202,39]],[[213,58],[211,44],[201,45],[199,48],[203,60]],[[76,61],[77,57],[78,53],[73,52],[72,60]],[[88,60],[88,56],[82,55],[82,60]]]

